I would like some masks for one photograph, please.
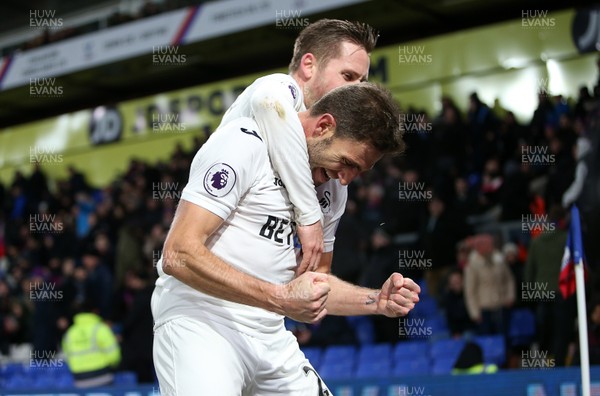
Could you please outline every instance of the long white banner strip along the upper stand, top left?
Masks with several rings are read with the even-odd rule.
[[[227,0],[180,9],[0,58],[0,91],[257,26],[308,25],[307,15],[366,0]],[[176,49],[175,49],[176,50]]]

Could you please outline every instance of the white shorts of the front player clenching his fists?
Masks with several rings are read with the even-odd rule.
[[[153,354],[166,396],[332,396],[283,327],[261,340],[181,317],[155,330]]]

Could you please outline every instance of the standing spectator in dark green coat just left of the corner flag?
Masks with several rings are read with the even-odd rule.
[[[554,355],[557,366],[566,363],[567,346],[574,337],[575,297],[564,299],[558,289],[558,275],[567,244],[566,212],[561,206],[550,209],[552,232],[531,241],[523,280],[539,290],[547,290],[554,298],[533,301],[540,350]]]

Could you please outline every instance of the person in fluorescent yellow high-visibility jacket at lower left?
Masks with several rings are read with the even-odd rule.
[[[62,350],[78,388],[110,385],[121,350],[110,327],[86,301],[62,341]]]

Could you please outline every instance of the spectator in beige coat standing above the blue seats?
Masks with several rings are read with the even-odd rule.
[[[471,238],[473,250],[465,268],[465,297],[477,332],[507,334],[509,308],[515,302],[515,280],[491,235]]]

